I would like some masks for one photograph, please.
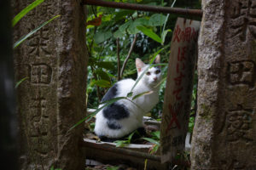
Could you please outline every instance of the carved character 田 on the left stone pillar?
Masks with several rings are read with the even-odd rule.
[[[52,68],[46,64],[33,64],[31,71],[31,83],[47,85],[51,82]]]

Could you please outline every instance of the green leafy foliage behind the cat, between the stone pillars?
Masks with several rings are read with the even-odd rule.
[[[112,0],[121,3],[141,3],[158,6],[173,6],[176,0]],[[134,38],[137,37],[135,48],[131,50],[131,58],[122,78],[136,79],[137,71],[135,59],[138,57],[152,64],[156,53],[161,55],[161,62],[167,63],[170,54],[170,42],[172,40],[172,29],[175,26],[177,15],[174,14],[154,14],[143,11],[133,11],[119,8],[103,8],[96,6],[88,7],[88,23],[90,20],[99,19],[102,22],[99,26],[87,26],[87,48],[89,51],[88,83],[87,83],[87,105],[96,108],[102,96],[118,81],[118,67],[123,65]],[[200,8],[200,2],[193,0],[187,2],[179,0],[175,7],[180,8]],[[187,18],[188,16],[185,16]],[[119,63],[118,63],[119,58]],[[119,66],[118,66],[119,64]],[[159,118],[162,110],[167,65],[161,67],[163,80],[160,82],[160,103],[151,111],[154,118]],[[140,78],[138,78],[139,81]],[[145,92],[147,94],[149,92]],[[142,94],[144,95],[144,94]],[[126,99],[136,99],[131,93],[124,96]],[[195,103],[195,98],[193,101]],[[195,104],[192,104],[195,108]],[[193,120],[191,119],[191,123]],[[194,123],[194,122],[193,122]],[[194,124],[193,124],[194,125]],[[192,126],[192,124],[191,124]],[[190,127],[191,127],[190,126]]]

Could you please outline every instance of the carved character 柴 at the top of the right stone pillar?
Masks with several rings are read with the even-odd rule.
[[[239,36],[241,41],[247,39],[250,32],[256,37],[256,2],[253,0],[237,0],[232,7],[232,36]]]

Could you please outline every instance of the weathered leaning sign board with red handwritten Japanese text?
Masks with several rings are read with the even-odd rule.
[[[200,25],[199,21],[178,18],[172,36],[160,133],[162,162],[172,161],[184,149]]]

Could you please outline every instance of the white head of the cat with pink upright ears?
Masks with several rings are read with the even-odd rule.
[[[160,55],[157,55],[154,59],[154,64],[160,63]],[[141,59],[136,59],[137,77],[140,77],[143,71],[145,71],[149,65],[145,65]],[[154,88],[161,80],[160,66],[154,66],[148,69],[140,80],[147,86]]]

